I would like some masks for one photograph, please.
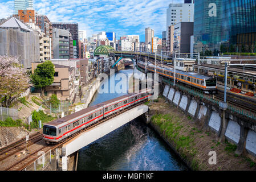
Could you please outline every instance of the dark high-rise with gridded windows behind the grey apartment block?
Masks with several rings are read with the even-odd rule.
[[[78,34],[78,23],[52,23],[52,28],[59,28],[62,30],[67,30],[71,33],[73,38],[73,48],[74,48],[74,58],[78,58],[79,49],[78,49],[78,41],[79,41],[79,34]]]

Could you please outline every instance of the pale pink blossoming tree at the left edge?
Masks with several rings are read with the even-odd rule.
[[[30,77],[25,68],[19,64],[18,57],[0,56],[0,96],[4,107],[21,96],[31,86]]]

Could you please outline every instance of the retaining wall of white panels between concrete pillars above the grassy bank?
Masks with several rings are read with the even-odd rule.
[[[184,111],[185,114],[200,122],[204,129],[216,134],[219,141],[227,139],[237,145],[235,154],[245,154],[256,161],[256,123],[229,111],[223,111],[207,101],[189,96],[169,85],[164,86],[162,95],[167,101]]]

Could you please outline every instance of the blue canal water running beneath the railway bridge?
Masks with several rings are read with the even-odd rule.
[[[128,77],[132,74],[132,69],[125,69],[119,73]],[[109,84],[109,79],[103,85]],[[119,81],[115,81],[115,84],[117,82]],[[111,89],[110,85],[108,88]],[[124,94],[96,93],[90,106]],[[178,158],[164,140],[140,119],[127,123],[79,150],[77,169],[78,171],[188,170],[185,163]]]

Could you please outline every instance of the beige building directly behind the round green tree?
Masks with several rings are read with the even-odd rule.
[[[32,73],[37,65],[41,63],[32,63]],[[75,101],[75,69],[64,65],[54,64],[54,82],[50,86],[46,86],[44,96],[50,97],[55,94],[59,100]]]

